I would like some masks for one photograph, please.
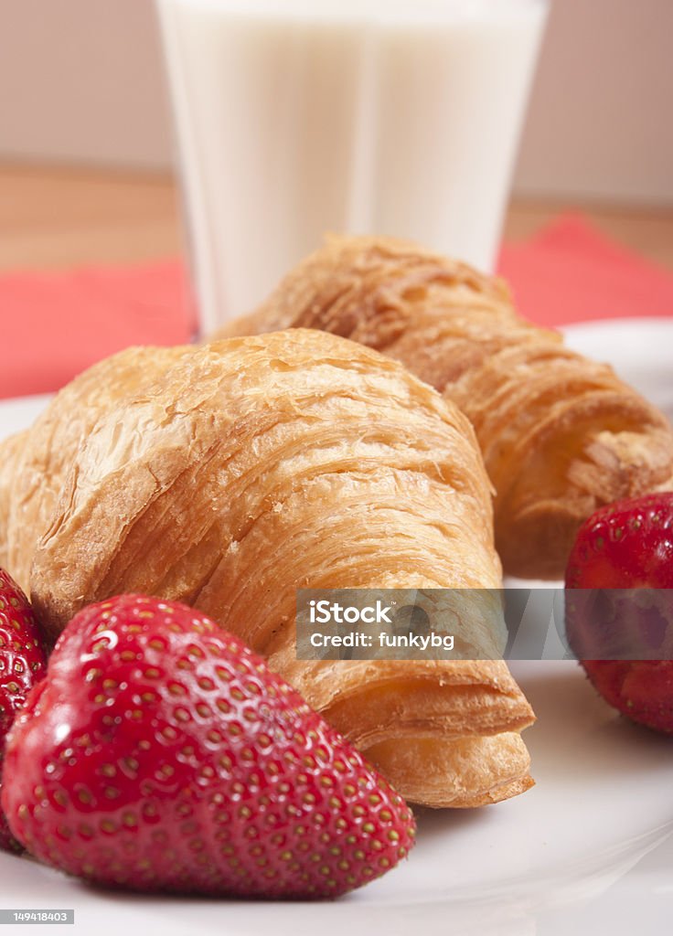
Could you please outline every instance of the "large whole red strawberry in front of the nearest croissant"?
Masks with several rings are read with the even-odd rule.
[[[411,812],[241,641],[125,595],[80,611],[7,742],[35,856],[139,890],[335,897],[405,856]]]

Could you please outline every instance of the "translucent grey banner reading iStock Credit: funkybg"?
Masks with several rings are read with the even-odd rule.
[[[670,660],[669,589],[305,589],[300,660]]]

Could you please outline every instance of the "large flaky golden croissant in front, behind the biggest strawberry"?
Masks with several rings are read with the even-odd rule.
[[[295,648],[301,587],[497,594],[490,486],[465,417],[396,362],[317,331],[173,354],[111,358],[102,401],[95,375],[80,378],[30,431],[27,451],[51,451],[37,435],[68,446],[32,548],[40,620],[55,634],[116,592],[187,602],[264,653],[411,800],[527,789],[519,733],[534,716],[502,660],[302,661]],[[154,377],[129,394],[125,365]],[[64,401],[80,405],[79,439]],[[473,635],[486,657],[505,642],[502,606],[489,607]]]

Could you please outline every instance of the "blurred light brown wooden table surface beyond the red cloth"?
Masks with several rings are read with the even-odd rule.
[[[516,201],[505,239],[525,240],[569,207],[609,237],[673,270],[673,210]],[[0,165],[0,270],[132,263],[180,252],[179,202],[168,175]]]

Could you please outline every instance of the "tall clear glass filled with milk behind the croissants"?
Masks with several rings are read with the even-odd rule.
[[[494,261],[546,0],[156,0],[204,333],[325,232]]]

